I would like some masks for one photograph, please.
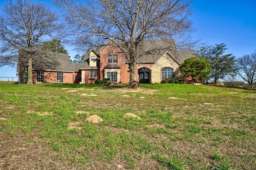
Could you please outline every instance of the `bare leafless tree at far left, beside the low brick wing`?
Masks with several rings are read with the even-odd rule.
[[[46,4],[31,0],[7,0],[0,14],[0,67],[27,65],[27,83],[32,83],[32,59],[42,53],[43,39],[56,34],[60,28],[58,16]],[[19,59],[18,59],[19,58]],[[41,57],[37,57],[42,59]]]

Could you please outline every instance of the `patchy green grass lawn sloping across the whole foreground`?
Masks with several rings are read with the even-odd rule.
[[[256,89],[0,83],[0,169],[254,170]]]

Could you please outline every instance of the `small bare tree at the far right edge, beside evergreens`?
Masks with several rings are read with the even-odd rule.
[[[237,65],[239,68],[238,75],[252,88],[253,84],[256,83],[256,51],[239,57]]]

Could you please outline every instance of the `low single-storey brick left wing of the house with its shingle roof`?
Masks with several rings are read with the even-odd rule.
[[[82,63],[72,63],[68,54],[50,53],[47,57],[33,60],[33,83],[79,83],[81,82]],[[39,61],[40,62],[37,62]],[[25,62],[26,63],[26,62]],[[26,83],[26,65],[18,64],[20,83]]]

